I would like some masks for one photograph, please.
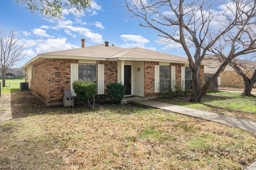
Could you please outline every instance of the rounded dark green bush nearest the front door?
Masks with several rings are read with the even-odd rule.
[[[122,82],[115,82],[107,84],[106,93],[114,103],[121,104],[124,99],[125,90],[126,86]]]

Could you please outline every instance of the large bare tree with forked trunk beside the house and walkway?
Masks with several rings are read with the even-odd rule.
[[[125,2],[128,16],[137,18],[140,26],[157,30],[162,41],[178,43],[184,49],[194,82],[190,102],[201,101],[210,84],[232,59],[256,51],[253,46],[255,39],[248,39],[249,45],[245,49],[237,46],[246,25],[256,25],[256,0],[231,0],[228,3],[220,0]],[[212,8],[216,4],[221,5],[218,11]],[[203,58],[227,40],[229,43],[224,50],[226,60],[202,86],[199,71]]]

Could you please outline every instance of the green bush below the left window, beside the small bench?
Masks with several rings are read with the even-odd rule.
[[[94,107],[94,95],[96,94],[97,84],[90,81],[74,81],[72,83],[74,92],[76,93],[77,99],[80,102],[86,104],[87,102],[90,104],[90,99],[93,98],[93,106]]]

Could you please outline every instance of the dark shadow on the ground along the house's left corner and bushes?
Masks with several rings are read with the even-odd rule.
[[[64,114],[77,114],[84,112],[95,112],[98,110],[105,110],[106,112],[112,111],[114,113],[124,113],[138,108],[133,104],[114,105],[110,103],[96,103],[94,109],[89,104],[81,104],[77,99],[74,101],[74,107],[59,106],[46,106],[40,99],[38,99],[29,90],[19,91],[19,89],[11,89],[11,112],[12,119],[18,119],[22,117],[34,116],[34,115],[64,115]],[[143,107],[145,108],[145,107]],[[122,111],[120,110],[122,109]],[[126,111],[127,109],[127,111]]]

